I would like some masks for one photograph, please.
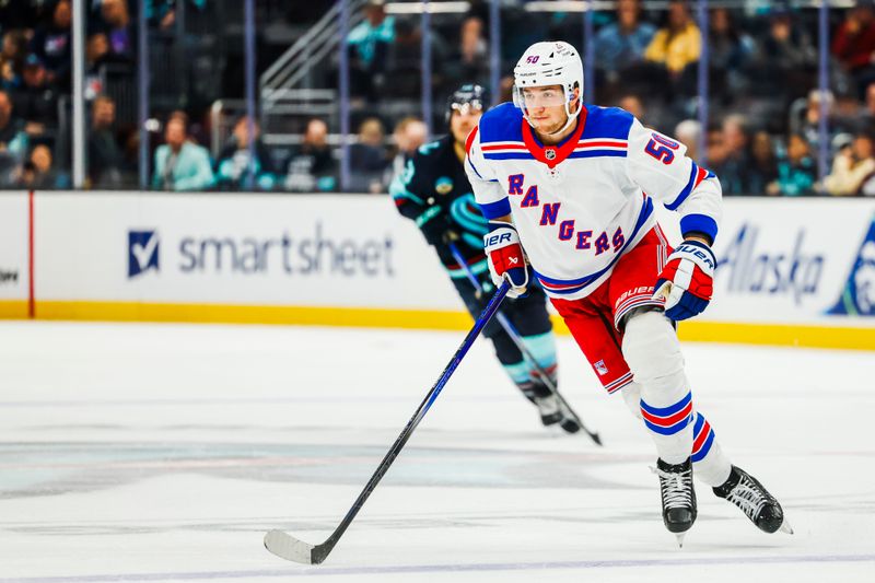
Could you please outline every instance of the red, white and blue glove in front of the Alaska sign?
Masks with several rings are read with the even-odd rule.
[[[665,315],[674,320],[701,314],[714,292],[714,253],[704,243],[685,241],[668,256],[654,298],[665,298]]]

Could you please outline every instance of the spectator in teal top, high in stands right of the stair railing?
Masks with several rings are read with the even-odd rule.
[[[350,62],[350,92],[376,101],[385,85],[389,46],[395,42],[395,18],[386,16],[385,0],[369,0],[364,21],[347,37]]]

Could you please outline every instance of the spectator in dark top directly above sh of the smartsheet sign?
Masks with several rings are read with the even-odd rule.
[[[304,140],[292,153],[285,189],[295,193],[337,190],[337,164],[328,145],[328,126],[322,119],[307,123]]]

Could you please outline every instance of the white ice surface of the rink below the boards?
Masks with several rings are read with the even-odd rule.
[[[475,346],[320,567],[458,333],[0,323],[0,583],[873,582],[875,354],[687,345],[698,407],[783,503],[766,535],[699,486],[678,549],[653,446],[569,338],[557,438]],[[693,579],[696,578],[696,579]]]

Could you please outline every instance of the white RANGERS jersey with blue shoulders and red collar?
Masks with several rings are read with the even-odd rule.
[[[721,188],[686,147],[616,107],[584,105],[562,143],[538,141],[522,112],[487,112],[467,140],[465,170],[487,219],[511,214],[553,298],[585,298],[656,224],[653,201],[681,214],[682,233],[716,236]]]

